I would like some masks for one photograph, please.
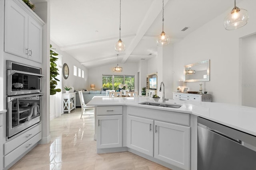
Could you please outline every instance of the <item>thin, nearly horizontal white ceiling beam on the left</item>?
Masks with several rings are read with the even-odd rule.
[[[135,36],[136,36],[136,34],[129,34],[129,35],[124,35],[122,37],[135,37]],[[110,37],[110,38],[99,39],[99,40],[95,40],[95,41],[88,41],[88,42],[64,45],[64,46],[60,47],[60,50],[68,51],[68,50],[72,50],[72,49],[79,49],[79,48],[86,47],[87,45],[92,45],[92,44],[95,45],[97,43],[102,43],[104,41],[112,41],[112,40],[116,40],[116,39],[119,39],[119,37]]]

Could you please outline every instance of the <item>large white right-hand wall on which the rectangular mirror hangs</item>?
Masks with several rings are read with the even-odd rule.
[[[256,32],[256,1],[243,0],[237,6],[248,10],[250,22],[244,27],[226,31],[223,20],[230,12],[209,21],[179,43],[174,44],[174,82],[183,77],[186,64],[210,59],[210,81],[203,82],[203,91],[213,102],[240,104],[239,38]],[[183,80],[183,79],[182,79]],[[199,82],[185,83],[190,91],[198,91]],[[175,87],[175,86],[174,86]]]

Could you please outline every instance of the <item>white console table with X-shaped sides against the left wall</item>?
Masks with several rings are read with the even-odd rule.
[[[76,93],[62,93],[63,111],[70,111],[76,108]]]

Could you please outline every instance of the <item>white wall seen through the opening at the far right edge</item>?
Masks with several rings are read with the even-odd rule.
[[[242,105],[256,107],[256,34],[242,39]]]

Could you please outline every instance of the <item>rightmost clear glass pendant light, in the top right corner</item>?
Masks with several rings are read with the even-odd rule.
[[[224,19],[224,25],[226,30],[233,30],[240,28],[248,22],[248,11],[244,9],[240,9],[236,6],[236,0],[235,6],[233,10],[226,16]]]

